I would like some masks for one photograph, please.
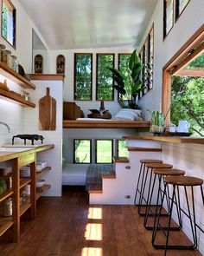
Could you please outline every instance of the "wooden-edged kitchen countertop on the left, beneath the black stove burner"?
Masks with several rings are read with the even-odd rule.
[[[36,153],[40,151],[44,151],[50,148],[54,148],[54,144],[45,144],[45,145],[39,145],[37,147],[32,148],[32,145],[29,145],[27,147],[23,147],[22,145],[15,145],[16,147],[12,146],[4,146],[5,151],[0,151],[0,161],[8,161],[14,158],[17,158],[19,156],[22,156],[23,154],[30,154],[30,153]],[[3,148],[3,147],[1,147]],[[13,148],[12,151],[6,150],[6,148]],[[15,148],[24,148],[22,151],[17,151]]]

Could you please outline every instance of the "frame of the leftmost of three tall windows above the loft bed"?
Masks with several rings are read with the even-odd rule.
[[[76,93],[76,56],[91,56],[91,98],[90,100],[80,100],[76,99],[75,93]],[[92,101],[92,53],[80,53],[80,52],[75,52],[73,54],[73,100],[74,101],[81,101],[81,102],[91,102]]]

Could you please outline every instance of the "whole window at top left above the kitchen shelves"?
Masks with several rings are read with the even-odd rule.
[[[2,36],[16,47],[16,9],[9,0],[2,1]]]

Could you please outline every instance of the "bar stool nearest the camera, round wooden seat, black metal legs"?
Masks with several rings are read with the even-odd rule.
[[[164,248],[165,249],[164,256],[166,255],[168,249],[194,250],[194,249],[197,248],[197,233],[196,233],[197,224],[196,224],[196,221],[195,221],[195,210],[194,210],[194,187],[196,187],[196,186],[201,187],[201,198],[202,198],[202,203],[203,203],[203,206],[204,206],[204,194],[203,194],[203,189],[202,189],[203,180],[201,180],[199,178],[196,178],[196,177],[189,177],[189,176],[179,176],[179,177],[167,176],[167,177],[164,178],[164,182],[165,182],[164,190],[166,190],[167,187],[169,187],[169,184],[173,186],[168,227],[170,227],[170,224],[171,224],[171,216],[172,216],[172,212],[173,212],[174,200],[175,200],[176,197],[177,197],[177,200],[180,200],[179,187],[184,187],[184,192],[185,192],[184,195],[185,195],[185,199],[186,199],[186,203],[187,203],[188,213],[185,213],[182,209],[181,210],[187,215],[187,217],[189,219],[194,242],[193,242],[193,245],[191,245],[191,246],[188,246],[188,245],[169,245],[169,231],[170,231],[170,228],[168,228],[167,233],[164,233],[164,231],[163,231],[163,233],[166,236],[165,244],[163,244],[163,245],[156,244],[156,242],[155,242],[156,233],[158,232],[159,229],[163,230],[163,227],[159,223],[160,215],[158,215],[157,221],[156,221],[156,226],[155,226],[155,229],[152,233],[152,246],[154,246],[155,248]],[[190,213],[187,187],[191,188],[193,218],[192,218],[192,213]],[[164,199],[164,195],[163,195],[163,199]],[[161,204],[159,213],[161,213],[161,210],[162,210],[162,207],[163,207],[163,199],[162,199],[162,204]],[[180,206],[180,203],[179,203],[179,206]]]

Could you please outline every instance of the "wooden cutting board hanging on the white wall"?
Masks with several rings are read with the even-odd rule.
[[[49,95],[48,87],[47,95],[39,101],[39,126],[41,130],[56,128],[56,101]]]

